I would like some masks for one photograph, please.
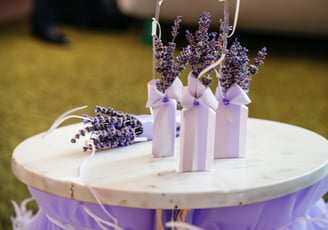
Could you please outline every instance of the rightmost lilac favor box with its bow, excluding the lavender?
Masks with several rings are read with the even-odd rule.
[[[214,158],[245,157],[248,107],[247,94],[233,85],[223,96],[217,89],[219,106],[216,110]]]

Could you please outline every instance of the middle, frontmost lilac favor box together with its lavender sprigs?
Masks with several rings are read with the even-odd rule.
[[[186,31],[186,53],[192,70],[181,99],[179,172],[208,171],[212,164],[218,103],[208,86],[215,72],[211,67],[222,56],[224,40],[220,34],[209,32],[210,22],[210,14],[205,12],[195,34]]]

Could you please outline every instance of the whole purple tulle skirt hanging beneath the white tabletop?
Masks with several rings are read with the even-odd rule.
[[[308,188],[272,200],[235,207],[194,209],[189,212],[185,221],[206,230],[328,229],[327,205],[321,199],[327,192],[327,187],[328,176]],[[88,215],[83,208],[110,221],[98,204],[54,196],[31,187],[29,189],[40,208],[29,225],[30,230],[62,229],[50,219],[69,226],[67,229],[101,229],[95,218]],[[118,226],[122,229],[155,229],[153,209],[104,206],[118,220]],[[172,221],[176,213],[176,210],[163,210],[162,222],[165,224]]]

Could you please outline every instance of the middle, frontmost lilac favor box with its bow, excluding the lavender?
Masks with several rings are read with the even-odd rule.
[[[178,172],[208,171],[213,161],[217,100],[209,88],[189,74],[181,104]]]

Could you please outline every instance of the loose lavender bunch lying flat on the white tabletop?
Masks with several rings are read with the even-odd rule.
[[[96,151],[100,151],[130,145],[135,137],[143,132],[142,123],[131,114],[102,106],[96,106],[94,112],[96,113],[94,117],[86,114],[82,116],[83,123],[87,126],[71,139],[72,143],[76,143],[81,136],[90,133],[90,140]],[[83,150],[92,150],[92,145],[86,144]]]

